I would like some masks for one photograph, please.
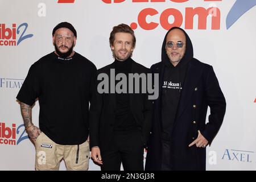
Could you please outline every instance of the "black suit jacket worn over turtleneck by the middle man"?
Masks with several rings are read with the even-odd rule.
[[[98,69],[97,75],[106,73],[110,79],[110,69],[114,69],[114,63]],[[131,73],[147,74],[150,73],[150,69],[132,60]],[[97,84],[89,113],[90,147],[99,146],[101,151],[104,151],[108,147],[113,135],[116,102],[115,93],[98,93],[97,85],[99,82],[101,82],[101,80],[96,81]],[[142,142],[146,146],[152,124],[153,101],[148,100],[148,93],[131,93],[129,97],[131,113],[133,114],[139,131],[141,131]]]

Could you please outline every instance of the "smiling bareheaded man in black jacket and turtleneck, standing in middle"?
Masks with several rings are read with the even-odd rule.
[[[142,171],[152,122],[152,100],[143,92],[150,69],[131,59],[136,39],[126,24],[113,27],[109,42],[115,60],[97,73],[89,114],[91,156],[104,171],[119,171],[121,163],[124,170]],[[138,76],[139,84],[130,84]]]

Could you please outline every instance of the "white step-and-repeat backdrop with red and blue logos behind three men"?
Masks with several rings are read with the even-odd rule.
[[[133,59],[148,68],[160,61],[167,30],[184,28],[194,56],[213,65],[227,103],[221,129],[207,147],[207,170],[256,169],[255,0],[0,0],[0,5],[0,170],[34,170],[35,148],[15,97],[30,66],[54,50],[52,29],[64,21],[76,28],[75,51],[97,68],[113,62],[109,34],[117,24],[133,28]],[[38,117],[37,101],[35,125]],[[89,170],[100,167],[90,160]]]

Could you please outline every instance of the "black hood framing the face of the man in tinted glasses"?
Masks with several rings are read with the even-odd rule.
[[[192,46],[192,43],[191,43],[191,40],[188,36],[188,34],[182,29],[182,28],[179,28],[179,27],[172,27],[167,33],[166,33],[166,36],[164,36],[164,41],[163,41],[163,45],[162,45],[162,55],[161,55],[161,58],[162,58],[162,61],[164,64],[166,65],[172,65],[170,63],[170,59],[166,53],[166,38],[167,38],[167,35],[169,34],[170,31],[174,30],[174,29],[179,29],[181,31],[184,32],[185,34],[185,38],[186,38],[186,50],[185,50],[185,54],[183,56],[183,58],[180,60],[180,63],[177,64],[177,67],[180,67],[181,65],[184,65],[184,64],[187,64],[189,60],[192,59],[193,57],[193,46]]]

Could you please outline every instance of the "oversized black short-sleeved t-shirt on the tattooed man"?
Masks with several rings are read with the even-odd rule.
[[[33,105],[39,100],[39,128],[57,144],[85,142],[89,133],[89,101],[96,67],[75,52],[68,59],[54,52],[36,61],[16,97]]]

